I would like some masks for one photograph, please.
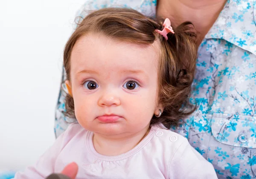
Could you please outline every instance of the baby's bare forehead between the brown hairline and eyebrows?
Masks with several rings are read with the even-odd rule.
[[[127,71],[141,68],[149,70],[158,62],[157,42],[151,45],[129,43],[102,35],[81,37],[71,53],[71,70],[105,69]]]

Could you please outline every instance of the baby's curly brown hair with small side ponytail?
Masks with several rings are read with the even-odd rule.
[[[158,23],[160,22],[160,23]],[[190,22],[174,28],[165,40],[155,30],[162,30],[162,20],[152,20],[133,9],[106,8],[93,11],[78,24],[64,49],[64,68],[67,80],[70,80],[70,55],[80,37],[89,32],[102,33],[106,37],[123,42],[151,45],[160,41],[159,60],[159,103],[164,111],[157,118],[153,116],[151,124],[163,123],[166,128],[178,125],[180,119],[191,114],[195,108],[187,111],[188,97],[195,73],[197,49],[196,33]],[[69,94],[65,100],[65,115],[75,118],[74,100]]]

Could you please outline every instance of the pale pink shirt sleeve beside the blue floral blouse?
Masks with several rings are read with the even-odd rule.
[[[218,178],[212,164],[185,140],[170,161],[169,179]]]

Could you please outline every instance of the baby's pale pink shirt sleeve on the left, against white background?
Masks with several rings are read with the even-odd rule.
[[[64,148],[70,141],[70,129],[62,133],[54,142],[54,144],[38,159],[35,165],[27,167],[23,172],[17,172],[14,179],[45,179],[49,174],[55,172],[55,161]]]

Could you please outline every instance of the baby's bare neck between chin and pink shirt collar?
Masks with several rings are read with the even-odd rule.
[[[94,133],[93,145],[95,150],[105,156],[116,156],[126,153],[133,149],[136,145],[147,136],[149,126],[136,134],[122,134],[120,136],[105,136],[102,134]]]

